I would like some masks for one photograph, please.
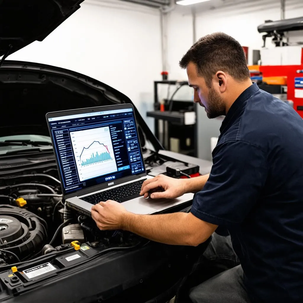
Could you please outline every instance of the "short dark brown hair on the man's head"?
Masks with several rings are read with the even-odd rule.
[[[218,71],[226,72],[241,82],[250,78],[246,56],[240,43],[225,33],[217,32],[200,38],[183,56],[179,65],[188,63],[197,66],[197,72],[211,87],[213,76]]]

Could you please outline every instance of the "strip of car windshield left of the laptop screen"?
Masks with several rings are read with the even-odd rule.
[[[10,152],[26,152],[39,147],[40,150],[52,149],[52,140],[43,135],[13,135],[0,137],[0,156]]]

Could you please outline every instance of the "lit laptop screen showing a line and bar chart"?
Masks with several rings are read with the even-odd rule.
[[[145,172],[133,108],[48,118],[64,194]]]

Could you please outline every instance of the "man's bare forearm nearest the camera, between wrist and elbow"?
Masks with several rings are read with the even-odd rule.
[[[188,213],[164,215],[135,215],[126,213],[122,229],[152,241],[171,245],[195,245],[195,239],[187,224]]]

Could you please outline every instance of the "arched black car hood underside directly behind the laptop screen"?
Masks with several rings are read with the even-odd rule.
[[[4,61],[0,68],[0,137],[45,135],[47,112],[132,103],[116,89],[88,76],[40,63]],[[134,106],[135,108],[135,106]],[[135,108],[142,147],[163,149]]]

